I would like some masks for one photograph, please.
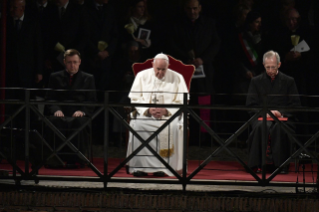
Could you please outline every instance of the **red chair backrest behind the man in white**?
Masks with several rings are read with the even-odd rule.
[[[182,63],[180,60],[176,60],[174,57],[167,55],[169,58],[169,69],[176,71],[177,73],[180,73],[185,80],[185,83],[187,85],[188,88],[188,92],[190,91],[191,88],[191,81],[192,81],[192,77],[195,71],[195,66],[193,65],[185,65],[184,63]],[[132,69],[134,72],[134,75],[136,75],[138,72],[148,69],[148,68],[152,68],[153,59],[148,59],[146,60],[144,63],[134,63],[132,65]]]

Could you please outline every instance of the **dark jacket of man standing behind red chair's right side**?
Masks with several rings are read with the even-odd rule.
[[[194,50],[195,58],[204,61],[206,77],[192,80],[193,92],[213,92],[213,60],[219,51],[220,39],[218,37],[215,21],[202,15],[192,23],[186,16],[174,23],[170,35],[170,54],[187,63],[191,60],[190,50]]]

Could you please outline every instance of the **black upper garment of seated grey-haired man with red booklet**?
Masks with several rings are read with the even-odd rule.
[[[295,80],[280,71],[273,83],[271,83],[271,79],[266,72],[252,78],[246,105],[248,107],[262,107],[263,96],[265,95],[269,95],[267,96],[267,106],[275,109],[278,106],[287,108],[300,106],[300,99],[296,96],[298,95],[298,90]],[[292,117],[292,114],[285,112],[284,109],[278,110],[285,117]]]

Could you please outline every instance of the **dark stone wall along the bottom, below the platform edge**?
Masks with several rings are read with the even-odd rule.
[[[316,197],[0,192],[0,211],[319,211]]]

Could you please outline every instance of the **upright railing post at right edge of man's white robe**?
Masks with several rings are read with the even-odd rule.
[[[186,191],[186,179],[187,179],[187,139],[188,139],[188,129],[187,129],[187,97],[188,93],[183,95],[183,191]]]

